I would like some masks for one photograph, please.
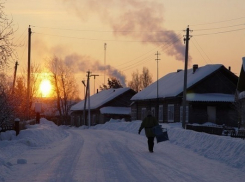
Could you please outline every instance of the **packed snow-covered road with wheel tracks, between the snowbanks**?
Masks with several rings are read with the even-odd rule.
[[[170,142],[147,151],[143,135],[118,130],[64,129],[67,137],[30,147],[9,159],[2,181],[217,182],[243,181],[244,173]],[[26,164],[17,164],[24,159]],[[25,162],[24,162],[25,163]]]

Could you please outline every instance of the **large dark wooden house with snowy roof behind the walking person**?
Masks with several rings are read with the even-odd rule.
[[[236,125],[237,81],[238,77],[221,64],[188,69],[186,122]],[[177,70],[135,94],[131,98],[132,120],[143,119],[150,109],[159,122],[182,121],[183,82],[184,71]]]

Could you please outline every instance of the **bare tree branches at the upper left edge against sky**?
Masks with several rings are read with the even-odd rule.
[[[13,20],[4,13],[4,2],[0,2],[0,70],[8,65],[8,58],[13,55]]]

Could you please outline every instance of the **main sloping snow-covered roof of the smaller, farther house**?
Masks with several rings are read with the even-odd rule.
[[[90,97],[90,109],[96,109],[103,104],[111,101],[112,99],[116,98],[117,96],[125,93],[126,91],[130,90],[129,87],[125,88],[118,88],[118,89],[108,89],[108,90],[102,90],[97,94],[94,94]],[[77,104],[73,105],[71,107],[71,111],[80,111],[84,108],[84,101],[82,100],[78,102]],[[86,103],[86,109],[88,109],[88,100]]]

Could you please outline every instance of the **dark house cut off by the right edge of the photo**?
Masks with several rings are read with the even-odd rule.
[[[239,127],[245,127],[245,57],[237,83],[236,108],[238,110]]]

